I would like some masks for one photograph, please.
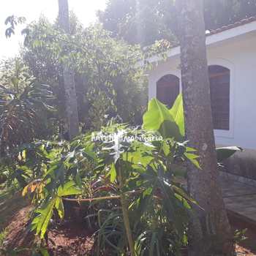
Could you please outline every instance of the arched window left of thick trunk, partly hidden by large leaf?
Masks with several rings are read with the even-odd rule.
[[[165,75],[157,82],[157,99],[167,105],[173,106],[179,94],[179,78],[176,75]]]

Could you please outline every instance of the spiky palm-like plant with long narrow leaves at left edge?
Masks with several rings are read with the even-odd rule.
[[[3,154],[42,134],[42,117],[48,99],[53,97],[49,86],[41,85],[29,75],[18,59],[8,61],[0,71],[0,150]]]

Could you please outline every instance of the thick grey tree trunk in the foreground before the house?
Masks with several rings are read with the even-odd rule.
[[[186,136],[202,167],[189,165],[189,192],[204,209],[197,212],[199,219],[192,217],[189,255],[232,255],[232,234],[218,184],[203,0],[178,0],[176,7]]]

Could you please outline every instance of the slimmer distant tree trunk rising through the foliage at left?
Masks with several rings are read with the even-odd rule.
[[[70,33],[68,0],[59,0],[59,26],[65,33]],[[74,71],[68,64],[63,64],[62,76],[66,99],[67,127],[69,139],[72,139],[79,133],[78,101],[75,91]]]

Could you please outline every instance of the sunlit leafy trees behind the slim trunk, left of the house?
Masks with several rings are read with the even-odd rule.
[[[16,19],[15,16],[7,18],[11,20],[9,23]],[[14,23],[8,37],[14,34],[17,24]],[[4,140],[12,143],[15,139],[14,143],[5,148],[8,149],[37,138],[53,138],[54,136],[69,138],[65,113],[67,97],[65,97],[62,72],[64,66],[70,67],[75,74],[75,100],[78,101],[80,132],[100,129],[102,125],[108,123],[110,118],[116,117],[119,121],[129,121],[133,125],[141,124],[142,113],[146,109],[147,102],[144,69],[148,64],[147,61],[145,64],[142,61],[140,67],[137,64],[138,61],[148,58],[151,54],[165,52],[165,49],[170,46],[167,41],[159,41],[151,48],[141,50],[139,45],[132,46],[124,40],[110,37],[110,32],[102,29],[99,24],[84,28],[73,13],[70,15],[70,33],[68,34],[60,29],[58,19],[55,23],[50,23],[44,17],[27,25],[23,29],[23,34],[25,39],[23,48],[20,50],[19,61],[21,66],[28,70],[26,79],[33,80],[35,85],[49,85],[48,90],[53,93],[50,105],[54,111],[46,113],[44,110],[40,113],[34,108],[31,111],[36,111],[38,115],[31,116],[31,118],[37,117],[37,120],[21,120],[20,124],[17,124],[19,119],[16,118],[14,121],[12,115],[12,119],[9,119],[13,123],[11,126],[19,127],[19,129],[9,131],[10,122],[4,123],[7,120],[4,115],[7,113],[6,108],[9,108],[9,102],[7,100],[1,102],[0,146],[1,143],[4,145]],[[0,93],[10,99],[12,95],[8,95],[10,94],[8,90],[12,86],[12,81],[19,80],[12,76],[8,83],[4,80],[8,74],[19,75],[15,72],[15,64],[12,62],[12,60],[7,61],[0,70],[0,85],[2,86]],[[21,69],[18,71],[20,72]],[[2,74],[4,76],[1,76]],[[21,80],[18,85],[21,84],[23,91],[28,93],[29,83],[22,83]],[[20,110],[18,108],[15,110],[17,110],[15,116],[21,116],[18,113]],[[45,119],[42,120],[42,118]],[[42,120],[43,125],[37,125],[39,120]],[[28,124],[31,124],[31,132],[25,133]],[[8,131],[9,137],[4,131]],[[20,136],[18,132],[26,136]]]

